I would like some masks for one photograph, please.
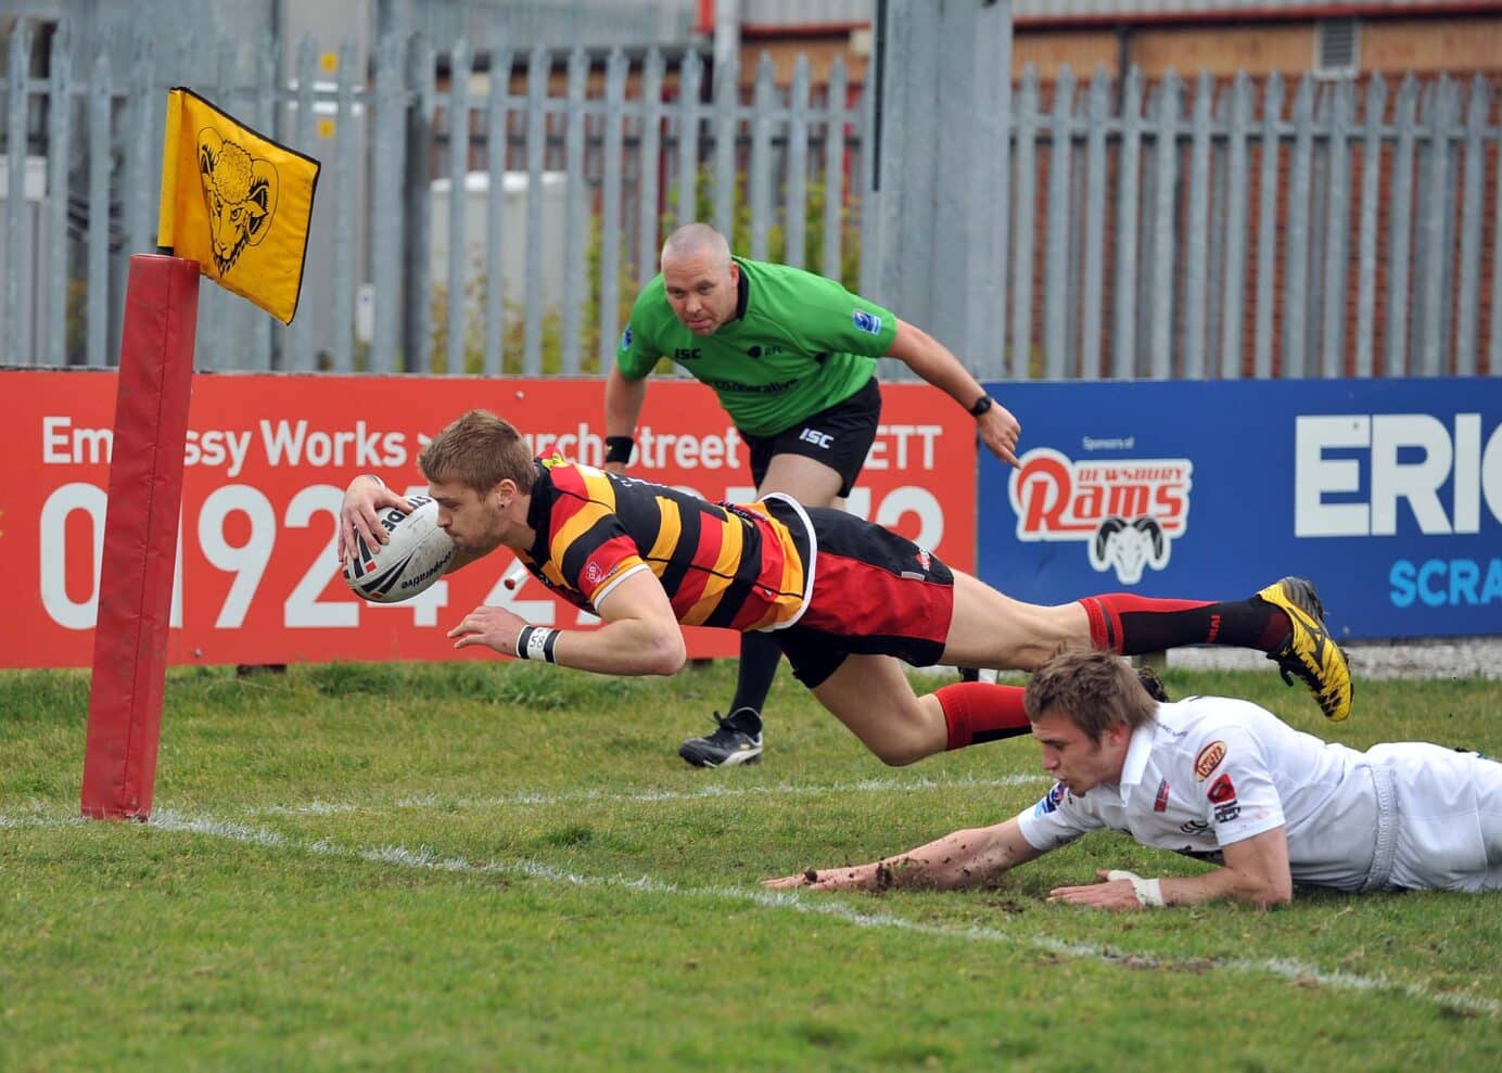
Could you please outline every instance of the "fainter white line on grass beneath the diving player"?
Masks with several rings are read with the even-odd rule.
[[[439,794],[415,794],[400,797],[385,803],[351,803],[312,800],[306,804],[270,804],[246,809],[252,816],[327,816],[342,812],[360,812],[376,809],[497,809],[514,806],[551,806],[577,804],[595,801],[703,801],[712,798],[734,797],[811,797],[822,794],[891,794],[901,791],[927,789],[999,789],[1005,786],[1027,786],[1048,782],[1041,774],[1008,774],[997,779],[957,777],[945,780],[933,779],[862,779],[859,782],[832,783],[822,786],[810,785],[771,785],[771,786],[727,786],[721,782],[706,783],[697,789],[643,789],[635,792],[607,792],[601,789],[565,789],[556,794],[524,791],[518,794],[503,794],[499,797],[440,797]]]

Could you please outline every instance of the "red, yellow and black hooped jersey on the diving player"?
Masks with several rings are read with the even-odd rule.
[[[783,513],[783,512],[780,512]],[[560,458],[538,461],[523,563],[569,603],[595,611],[637,570],[652,570],[683,626],[777,629],[807,602],[811,539],[765,504],[689,492]]]

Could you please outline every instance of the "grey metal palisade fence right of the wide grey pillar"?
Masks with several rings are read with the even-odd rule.
[[[1493,83],[1014,95],[1009,377],[1502,372]]]

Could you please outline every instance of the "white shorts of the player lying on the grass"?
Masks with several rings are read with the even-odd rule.
[[[1373,746],[1367,759],[1392,789],[1380,804],[1394,836],[1386,885],[1502,890],[1502,764],[1425,741]]]

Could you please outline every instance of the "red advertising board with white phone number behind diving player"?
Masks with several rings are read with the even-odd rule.
[[[850,510],[972,570],[973,420],[927,386],[882,393],[882,429]],[[0,372],[0,666],[90,662],[114,396],[113,372]],[[599,380],[195,377],[170,662],[475,657],[473,648],[455,653],[445,632],[479,603],[539,624],[581,624],[530,578],[508,591],[500,579],[515,558],[506,552],[388,606],[365,603],[339,579],[335,531],[348,480],[379,473],[394,488],[422,491],[418,452],[470,407],[511,420],[538,452],[602,458]],[[712,500],[754,498],[745,444],[697,383],[653,381],[637,444],[632,476]],[[689,635],[692,656],[737,650],[725,630]]]

